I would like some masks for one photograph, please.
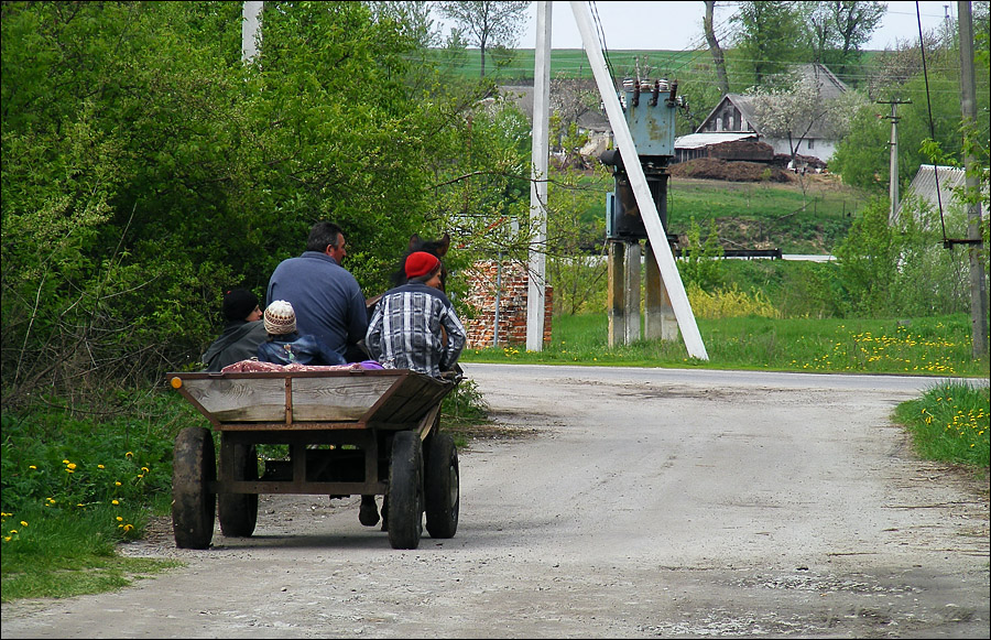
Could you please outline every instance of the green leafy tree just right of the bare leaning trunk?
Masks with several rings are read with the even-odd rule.
[[[730,21],[739,26],[737,54],[754,86],[781,74],[807,50],[798,2],[740,2]]]

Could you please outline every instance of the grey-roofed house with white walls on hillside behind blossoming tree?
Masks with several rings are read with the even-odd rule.
[[[814,83],[823,101],[841,96],[847,86],[821,64],[806,64],[798,72],[807,82]],[[740,135],[741,138],[732,138]],[[760,119],[756,116],[753,99],[742,94],[726,94],[716,105],[703,123],[690,135],[675,140],[675,152],[678,160],[698,158],[708,145],[743,140],[755,137],[770,144],[775,154],[791,155],[792,149],[787,138],[771,138],[761,132]],[[835,139],[826,127],[814,124],[796,149],[799,155],[818,159],[823,163],[829,161],[839,140]]]

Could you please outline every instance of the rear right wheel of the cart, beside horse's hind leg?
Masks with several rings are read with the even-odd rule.
[[[416,549],[423,534],[423,446],[413,431],[399,431],[392,438],[386,491],[389,543]]]

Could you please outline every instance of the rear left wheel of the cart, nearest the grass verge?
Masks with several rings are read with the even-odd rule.
[[[209,430],[188,426],[175,438],[172,470],[172,531],[179,549],[207,549],[214,538],[217,457]]]

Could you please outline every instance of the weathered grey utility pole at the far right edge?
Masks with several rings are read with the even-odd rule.
[[[967,144],[974,131],[977,105],[973,82],[973,22],[970,2],[957,1],[960,31],[960,108],[963,112],[963,172],[967,203],[967,251],[970,257],[970,323],[973,358],[988,357],[988,285],[984,282],[984,253],[981,238],[981,199],[977,159]]]

